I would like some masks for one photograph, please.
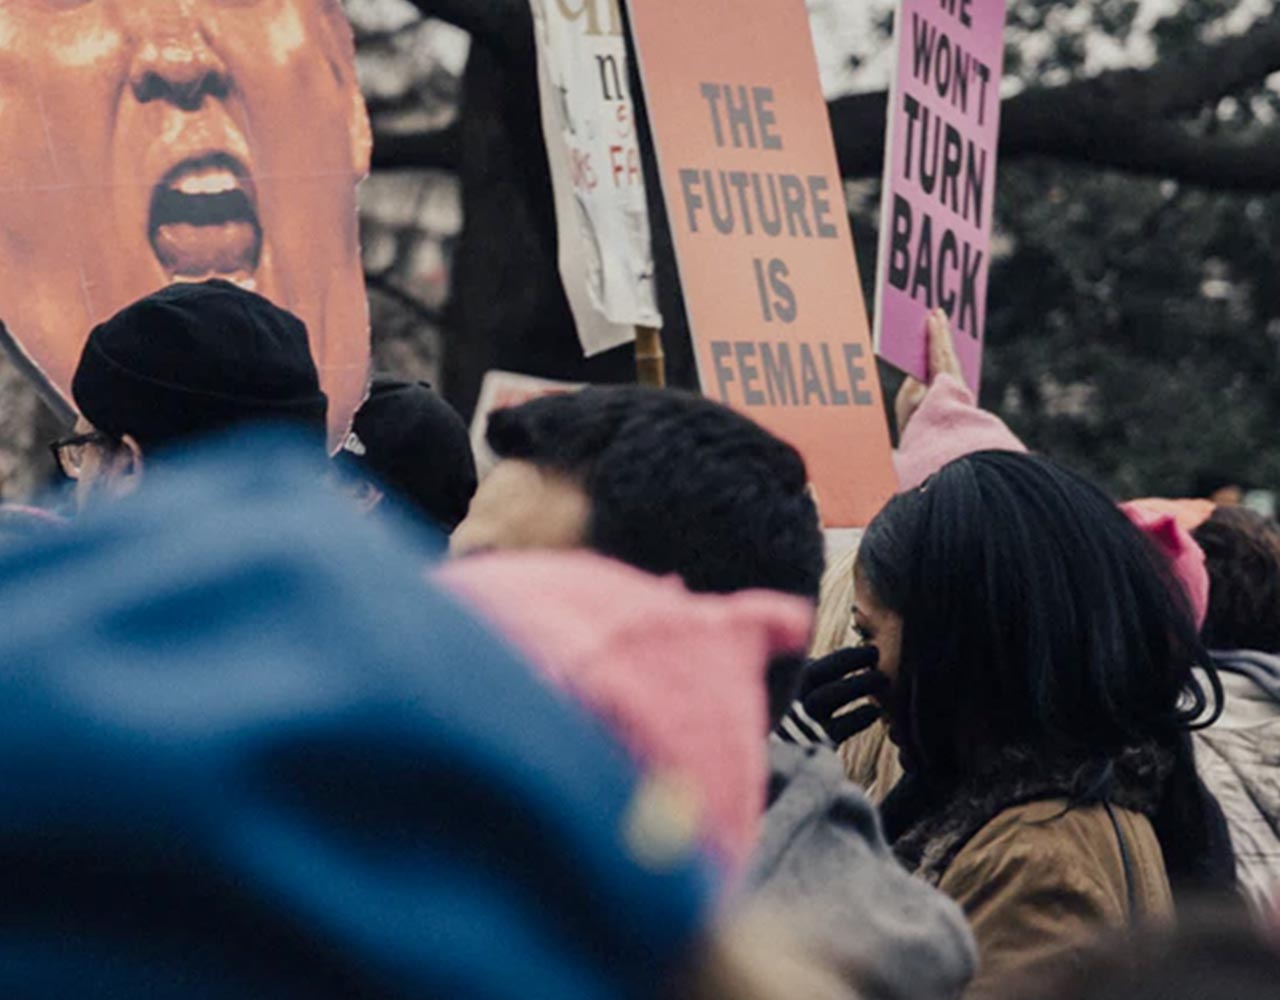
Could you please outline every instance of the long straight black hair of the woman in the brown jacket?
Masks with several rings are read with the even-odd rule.
[[[1224,825],[1188,734],[1216,720],[1221,685],[1167,562],[1106,494],[1048,458],[969,455],[881,511],[858,572],[902,617],[893,721],[911,767],[955,785],[1019,748],[1078,764],[1088,803],[1125,749],[1157,745],[1174,757],[1153,790],[1170,876],[1208,877]]]

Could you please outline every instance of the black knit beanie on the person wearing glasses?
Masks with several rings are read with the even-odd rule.
[[[96,327],[72,396],[143,451],[251,423],[323,439],[329,408],[302,320],[224,280],[169,286]]]

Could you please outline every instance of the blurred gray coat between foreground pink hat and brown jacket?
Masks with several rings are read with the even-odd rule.
[[[950,1000],[977,967],[960,908],[893,857],[874,807],[822,748],[771,741],[771,804],[748,873],[850,983],[850,996]]]

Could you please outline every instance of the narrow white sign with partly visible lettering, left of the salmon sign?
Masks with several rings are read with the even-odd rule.
[[[588,356],[660,327],[617,0],[529,0],[534,12],[559,273]]]

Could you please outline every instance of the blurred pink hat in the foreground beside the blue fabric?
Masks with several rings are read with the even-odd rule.
[[[804,650],[808,602],[763,590],[691,594],[588,552],[504,552],[447,565],[444,586],[504,633],[644,766],[701,798],[703,840],[732,875],[768,782],[769,658]]]

